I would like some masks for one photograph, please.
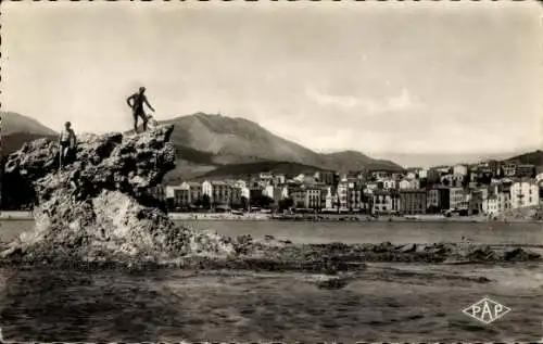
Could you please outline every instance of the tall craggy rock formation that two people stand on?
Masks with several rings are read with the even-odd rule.
[[[176,226],[153,196],[151,188],[175,167],[172,131],[84,135],[62,169],[59,146],[47,139],[12,154],[4,180],[36,200],[36,228],[2,253],[3,262],[161,264],[233,252],[228,238]]]

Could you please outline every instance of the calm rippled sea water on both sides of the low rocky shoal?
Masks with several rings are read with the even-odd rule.
[[[541,225],[186,222],[293,242],[543,243]],[[1,222],[8,241],[31,221]],[[484,276],[490,283],[473,282]],[[540,341],[543,267],[372,264],[342,290],[315,276],[251,271],[0,270],[9,341]],[[512,308],[484,324],[462,309],[489,296]]]

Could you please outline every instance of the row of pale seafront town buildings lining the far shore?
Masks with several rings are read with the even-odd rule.
[[[438,214],[458,211],[498,215],[540,204],[543,174],[533,165],[487,162],[356,174],[318,171],[285,176],[261,173],[247,180],[186,181],[166,186],[173,209],[294,207],[314,212]],[[266,201],[266,202],[263,202]]]

